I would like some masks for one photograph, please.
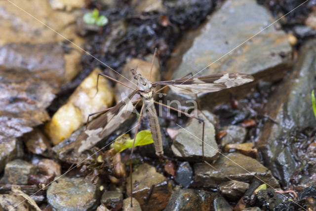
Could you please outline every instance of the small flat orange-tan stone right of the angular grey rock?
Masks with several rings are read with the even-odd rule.
[[[252,158],[257,158],[258,149],[254,148],[254,144],[252,142],[247,143],[230,143],[227,144],[224,148],[224,152],[234,152],[237,151],[246,156],[250,156]]]

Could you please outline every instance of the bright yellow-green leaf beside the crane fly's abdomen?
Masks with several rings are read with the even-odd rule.
[[[118,137],[112,144],[111,148],[114,148],[116,152],[121,152],[124,149],[132,148],[134,139],[130,139],[129,135],[123,135]],[[150,130],[140,131],[135,140],[135,147],[141,145],[147,145],[153,143],[153,138]]]

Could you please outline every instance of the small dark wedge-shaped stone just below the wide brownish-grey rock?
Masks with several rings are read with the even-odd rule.
[[[232,201],[240,199],[240,197],[246,192],[248,187],[248,183],[236,180],[223,182],[218,185],[218,189],[221,195]]]

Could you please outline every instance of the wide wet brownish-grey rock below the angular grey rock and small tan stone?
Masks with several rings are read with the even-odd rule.
[[[279,187],[278,181],[266,167],[257,160],[239,153],[220,156],[213,167],[216,171],[205,163],[195,164],[195,180],[192,185],[216,187],[229,180],[226,176],[237,181],[249,182],[255,175],[272,187]]]

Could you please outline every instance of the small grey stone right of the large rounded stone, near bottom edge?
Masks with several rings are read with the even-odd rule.
[[[120,191],[107,191],[102,194],[101,203],[112,211],[118,211],[123,206],[123,194]]]

